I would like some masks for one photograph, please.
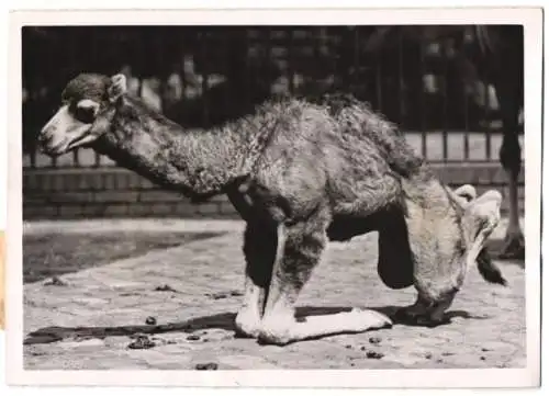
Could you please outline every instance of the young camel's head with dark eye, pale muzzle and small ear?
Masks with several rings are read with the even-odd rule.
[[[59,110],[38,135],[43,151],[59,156],[97,140],[109,129],[115,104],[126,90],[124,75],[74,78],[63,91]]]

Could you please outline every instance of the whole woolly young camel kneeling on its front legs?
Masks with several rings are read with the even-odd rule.
[[[227,194],[247,224],[236,328],[261,342],[392,325],[356,308],[295,318],[328,240],[379,231],[378,272],[389,287],[416,287],[401,313],[424,324],[442,323],[474,262],[486,281],[505,284],[483,248],[500,193],[446,188],[392,124],[355,101],[266,103],[224,126],[186,131],[127,95],[122,75],[80,75],[40,142],[51,156],[92,147],[193,200]]]

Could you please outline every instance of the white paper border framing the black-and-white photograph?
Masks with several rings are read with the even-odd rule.
[[[121,22],[123,21],[123,22]],[[16,11],[9,25],[7,381],[10,385],[208,387],[524,387],[540,381],[542,10],[536,8],[341,10]],[[24,25],[523,24],[527,365],[473,370],[30,371],[23,367],[21,27]]]

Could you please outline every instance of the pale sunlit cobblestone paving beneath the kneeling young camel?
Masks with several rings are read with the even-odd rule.
[[[522,265],[497,262],[509,281],[508,287],[488,284],[477,271],[471,271],[450,308],[451,323],[445,326],[396,324],[391,329],[287,347],[260,346],[255,340],[234,337],[233,319],[239,306],[244,271],[242,223],[168,222],[157,226],[176,228],[181,224],[183,230],[224,227],[227,234],[67,274],[60,278],[60,285],[26,284],[25,369],[526,365]],[[102,222],[87,225],[86,230],[101,231],[109,226],[136,225]],[[503,226],[496,236],[502,235]],[[47,231],[48,227],[82,228],[78,224],[57,223],[27,226],[25,231]],[[413,303],[412,288],[391,291],[381,283],[376,263],[376,234],[347,244],[332,244],[301,296],[300,310],[337,312],[361,306],[391,313]]]

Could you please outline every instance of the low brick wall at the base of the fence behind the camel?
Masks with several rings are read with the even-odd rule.
[[[506,196],[506,178],[498,163],[433,165],[449,185],[470,183],[479,193],[497,189]],[[524,211],[524,174],[519,181]],[[508,211],[504,201],[503,213]],[[173,192],[120,168],[27,169],[23,172],[23,218],[182,217],[237,218],[225,196],[192,204]]]

